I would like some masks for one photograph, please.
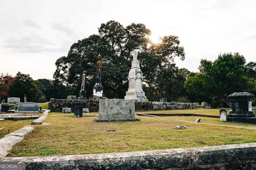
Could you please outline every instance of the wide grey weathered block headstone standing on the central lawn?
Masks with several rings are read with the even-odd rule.
[[[135,118],[134,100],[105,99],[100,100],[99,118],[95,118],[94,121],[140,121],[140,119]]]

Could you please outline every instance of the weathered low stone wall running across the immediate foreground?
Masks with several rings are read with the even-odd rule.
[[[256,143],[95,155],[3,158],[26,169],[255,169]],[[1,160],[1,159],[0,159]]]

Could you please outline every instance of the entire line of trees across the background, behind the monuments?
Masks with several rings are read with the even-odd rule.
[[[67,56],[60,57],[53,80],[34,81],[28,74],[15,77],[2,74],[0,97],[27,95],[30,101],[78,96],[82,72],[86,71],[86,97],[92,96],[95,84],[97,55],[102,56],[102,85],[107,98],[124,98],[128,89],[131,52],[138,50],[143,73],[143,90],[149,100],[158,97],[169,101],[201,102],[226,105],[232,92],[247,91],[256,95],[256,63],[246,64],[239,53],[220,54],[215,61],[201,60],[199,72],[178,68],[175,57],[185,60],[185,50],[177,36],[164,36],[157,44],[150,41],[151,31],[142,23],[124,27],[116,21],[102,23],[98,34],[78,40]]]

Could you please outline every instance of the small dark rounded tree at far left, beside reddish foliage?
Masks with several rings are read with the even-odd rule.
[[[37,84],[29,74],[18,72],[14,79],[8,90],[9,97],[20,97],[21,101],[23,101],[26,94],[27,101],[38,101],[42,92],[39,91]]]

